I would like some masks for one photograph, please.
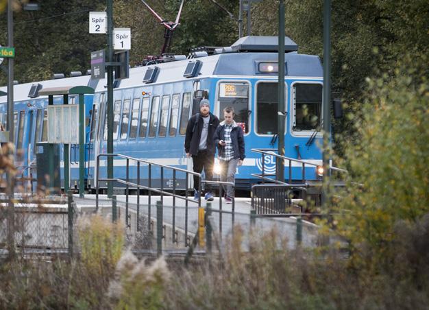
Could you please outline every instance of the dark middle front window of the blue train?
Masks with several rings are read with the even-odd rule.
[[[256,132],[258,134],[276,134],[278,115],[278,83],[262,82],[256,93]]]

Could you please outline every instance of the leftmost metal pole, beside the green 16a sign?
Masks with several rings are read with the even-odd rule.
[[[8,46],[14,46],[14,21],[12,15],[12,0],[8,0]],[[8,59],[8,123],[6,130],[9,131],[9,142],[14,143],[14,58]],[[14,158],[14,156],[12,156]],[[12,174],[8,174],[9,193],[9,223],[8,223],[8,255],[12,260],[15,257],[15,242],[14,242],[14,178]]]

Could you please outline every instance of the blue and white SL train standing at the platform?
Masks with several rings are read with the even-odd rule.
[[[323,102],[323,70],[318,56],[297,53],[297,45],[285,41],[285,156],[321,165],[320,132]],[[236,110],[236,121],[245,128],[246,155],[238,167],[236,187],[250,189],[260,179],[252,174],[275,171],[274,156],[251,149],[277,149],[278,145],[278,39],[277,37],[244,37],[231,47],[195,51],[190,56],[168,56],[161,63],[147,63],[130,69],[130,78],[114,82],[114,152],[144,158],[154,163],[191,169],[191,159],[184,153],[184,134],[189,117],[198,110],[199,100],[207,97],[210,110],[222,119],[225,106]],[[90,75],[47,80],[14,86],[14,141],[18,165],[28,166],[36,160],[36,143],[47,140],[46,96],[35,96],[39,88],[90,86],[94,95],[85,95],[86,143],[85,186],[94,187],[95,160],[107,153],[106,79],[92,80]],[[37,87],[36,87],[37,88]],[[5,87],[0,91],[6,92]],[[30,96],[30,97],[29,97]],[[54,97],[62,104],[63,97]],[[77,104],[77,96],[69,96]],[[0,123],[5,123],[6,96],[0,97]],[[64,162],[61,156],[61,167]],[[79,180],[79,145],[70,147],[71,187]],[[101,160],[100,177],[106,177],[106,160]],[[285,176],[289,176],[286,162]],[[125,160],[114,160],[114,177],[125,178]],[[141,168],[142,183],[147,171]],[[291,163],[291,178],[302,179],[302,165]],[[319,182],[315,167],[307,165],[306,180]],[[136,178],[136,171],[131,172]],[[157,178],[159,171],[152,177]],[[164,188],[173,187],[169,175]],[[159,182],[159,176],[158,176]],[[191,182],[191,180],[190,180]],[[152,183],[154,184],[154,183]],[[159,185],[159,184],[158,184]],[[184,176],[177,176],[177,188],[192,188]],[[106,187],[106,184],[100,184]]]

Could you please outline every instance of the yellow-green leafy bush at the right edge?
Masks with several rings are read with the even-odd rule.
[[[395,70],[369,80],[356,121],[357,141],[345,141],[347,190],[334,211],[335,230],[348,239],[353,262],[390,267],[396,226],[429,213],[429,84],[427,58],[406,56]],[[419,66],[420,64],[420,66]]]

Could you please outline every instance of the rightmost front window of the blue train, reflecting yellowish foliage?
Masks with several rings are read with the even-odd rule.
[[[293,130],[320,130],[322,92],[321,84],[293,85]]]

